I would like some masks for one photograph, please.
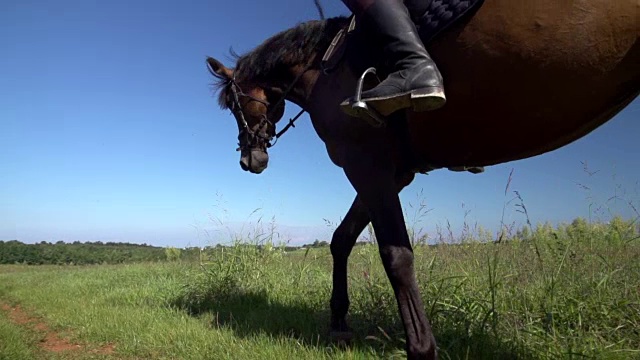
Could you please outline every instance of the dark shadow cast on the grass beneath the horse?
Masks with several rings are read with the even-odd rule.
[[[319,349],[333,347],[332,352],[342,351],[329,337],[328,305],[326,310],[314,309],[304,302],[274,300],[266,291],[229,290],[205,294],[197,301],[181,297],[172,306],[204,317],[212,328],[231,329],[240,338],[267,335]],[[352,350],[374,358],[388,358],[392,354],[404,358],[404,331],[399,318],[355,313],[349,315],[348,321],[354,335],[349,345]],[[536,359],[527,349],[515,349],[489,334],[470,337],[453,326],[437,330],[440,359]]]

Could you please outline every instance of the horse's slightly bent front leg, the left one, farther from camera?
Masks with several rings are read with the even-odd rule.
[[[347,291],[347,262],[353,245],[365,226],[369,223],[369,214],[356,196],[344,219],[333,232],[331,256],[333,257],[333,289],[331,292],[331,330],[332,340],[348,342],[351,329],[347,325],[349,294]]]

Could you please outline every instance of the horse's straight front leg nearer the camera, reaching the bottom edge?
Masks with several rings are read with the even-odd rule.
[[[394,167],[384,155],[350,151],[344,170],[367,208],[380,256],[396,296],[406,334],[408,359],[437,359],[436,342],[425,315],[413,267]]]

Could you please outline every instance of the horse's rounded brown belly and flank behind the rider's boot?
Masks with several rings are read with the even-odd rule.
[[[584,136],[640,88],[637,10],[635,0],[486,0],[429,47],[448,102],[412,116],[414,143],[436,162],[490,164]]]

